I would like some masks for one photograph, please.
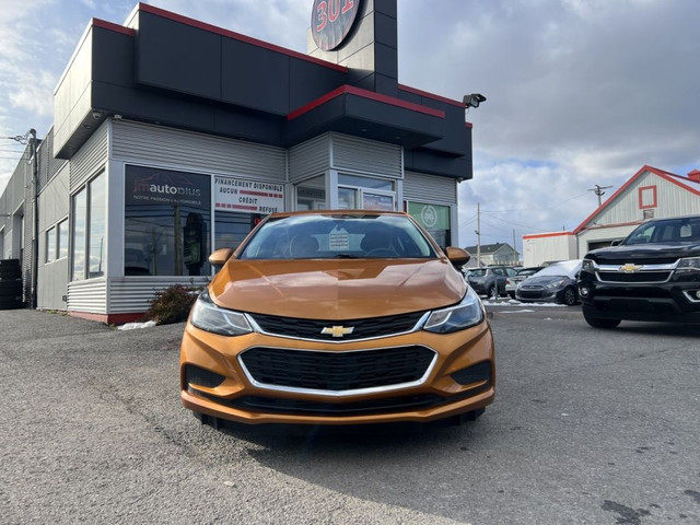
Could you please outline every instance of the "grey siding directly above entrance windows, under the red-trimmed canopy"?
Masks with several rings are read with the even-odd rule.
[[[332,167],[375,173],[392,178],[404,177],[400,145],[332,133]]]

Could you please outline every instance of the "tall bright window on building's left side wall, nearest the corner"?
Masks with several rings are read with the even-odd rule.
[[[103,173],[73,196],[73,281],[104,276],[106,220],[106,184]],[[57,246],[61,246],[61,243],[59,238]],[[62,250],[63,247],[59,249]]]

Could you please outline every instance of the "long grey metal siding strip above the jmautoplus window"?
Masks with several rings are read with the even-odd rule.
[[[287,178],[282,148],[129,120],[113,121],[110,158],[269,182],[284,183]]]

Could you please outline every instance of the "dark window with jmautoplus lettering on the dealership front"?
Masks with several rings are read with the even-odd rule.
[[[206,276],[211,177],[126,166],[125,276]]]

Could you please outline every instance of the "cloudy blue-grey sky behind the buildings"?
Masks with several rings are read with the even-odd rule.
[[[0,190],[52,122],[52,92],[91,18],[124,23],[132,0],[0,0]],[[305,52],[312,0],[154,0],[160,8]],[[700,168],[700,1],[398,0],[399,82],[488,97],[474,179],[459,188],[460,245],[521,249],[572,230],[644,164]]]

